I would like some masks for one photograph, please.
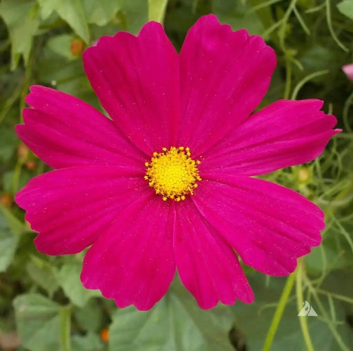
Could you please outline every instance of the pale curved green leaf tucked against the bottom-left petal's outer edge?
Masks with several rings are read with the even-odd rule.
[[[66,263],[57,274],[59,285],[74,305],[83,307],[91,297],[100,297],[99,290],[85,289],[80,280],[81,263]]]

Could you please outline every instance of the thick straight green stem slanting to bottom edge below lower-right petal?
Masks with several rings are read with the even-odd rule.
[[[287,281],[285,282],[281,298],[279,299],[279,304],[277,305],[276,312],[274,312],[270,329],[268,330],[265,343],[263,344],[263,351],[270,351],[274,335],[276,334],[276,331],[279,328],[279,323],[282,319],[285,305],[287,305],[288,298],[290,297],[290,292],[292,292],[295,277],[296,271],[290,274],[290,276],[287,278]]]

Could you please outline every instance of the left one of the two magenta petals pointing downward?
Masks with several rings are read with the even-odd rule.
[[[152,193],[122,210],[109,232],[88,250],[81,280],[120,308],[149,310],[174,277],[170,205]]]

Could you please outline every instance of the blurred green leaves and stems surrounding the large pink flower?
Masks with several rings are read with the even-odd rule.
[[[100,108],[81,53],[101,35],[137,34],[154,19],[164,21],[179,50],[188,28],[210,12],[234,30],[261,34],[276,50],[278,66],[261,106],[282,98],[319,98],[339,119],[343,132],[320,159],[266,176],[323,208],[323,243],[288,278],[245,268],[256,295],[252,305],[200,310],[176,279],[149,312],[118,310],[82,287],[83,253],[48,257],[35,250],[35,233],[13,197],[48,166],[19,143],[14,125],[21,122],[33,83]],[[0,348],[353,349],[353,82],[341,71],[353,62],[352,0],[1,0],[0,17]],[[297,317],[303,301],[318,317]],[[101,334],[105,328],[110,341]]]

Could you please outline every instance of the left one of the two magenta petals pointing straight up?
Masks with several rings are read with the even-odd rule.
[[[174,146],[179,57],[160,23],[138,37],[118,32],[83,54],[92,88],[125,135],[147,154]]]

